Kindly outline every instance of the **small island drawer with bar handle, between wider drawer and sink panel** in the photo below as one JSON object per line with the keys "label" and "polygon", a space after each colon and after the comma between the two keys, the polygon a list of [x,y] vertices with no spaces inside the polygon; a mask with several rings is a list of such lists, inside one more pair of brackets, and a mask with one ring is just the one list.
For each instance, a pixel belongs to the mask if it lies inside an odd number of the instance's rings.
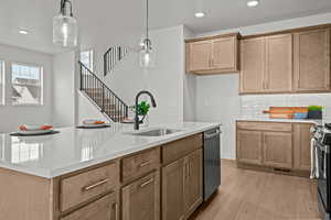
{"label": "small island drawer with bar handle, between wider drawer and sink panel", "polygon": [[147,174],[160,165],[160,148],[147,151],[121,161],[122,182],[132,180]]}

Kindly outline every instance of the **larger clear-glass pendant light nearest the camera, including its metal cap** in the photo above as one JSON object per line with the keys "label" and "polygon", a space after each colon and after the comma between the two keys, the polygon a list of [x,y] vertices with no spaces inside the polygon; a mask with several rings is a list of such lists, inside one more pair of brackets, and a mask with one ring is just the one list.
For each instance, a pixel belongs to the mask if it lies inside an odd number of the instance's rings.
{"label": "larger clear-glass pendant light nearest the camera, including its metal cap", "polygon": [[61,0],[60,14],[53,18],[53,43],[63,47],[77,46],[78,24],[73,15],[72,0]]}

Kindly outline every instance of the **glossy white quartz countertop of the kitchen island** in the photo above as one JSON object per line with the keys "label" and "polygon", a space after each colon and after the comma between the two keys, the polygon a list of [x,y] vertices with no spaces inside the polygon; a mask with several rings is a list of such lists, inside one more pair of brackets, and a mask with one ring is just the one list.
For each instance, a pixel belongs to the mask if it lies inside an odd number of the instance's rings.
{"label": "glossy white quartz countertop of the kitchen island", "polygon": [[132,135],[132,124],[113,124],[108,129],[56,129],[58,134],[11,136],[0,134],[0,167],[53,178],[88,166],[147,150],[167,142],[200,133],[220,123],[184,122],[150,127],[180,130],[164,136]]}

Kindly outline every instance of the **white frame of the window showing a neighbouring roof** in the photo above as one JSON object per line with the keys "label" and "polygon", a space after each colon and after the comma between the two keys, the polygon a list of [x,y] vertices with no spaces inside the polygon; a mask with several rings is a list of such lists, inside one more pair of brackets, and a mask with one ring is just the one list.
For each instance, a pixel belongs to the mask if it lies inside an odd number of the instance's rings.
{"label": "white frame of the window showing a neighbouring roof", "polygon": [[26,66],[26,67],[34,67],[40,69],[40,102],[39,103],[13,103],[12,101],[12,90],[10,92],[10,102],[12,107],[43,107],[44,106],[44,67],[39,64],[29,64],[29,63],[22,63],[22,62],[10,62],[10,88],[12,89],[12,66],[13,65],[20,65],[20,66]]}

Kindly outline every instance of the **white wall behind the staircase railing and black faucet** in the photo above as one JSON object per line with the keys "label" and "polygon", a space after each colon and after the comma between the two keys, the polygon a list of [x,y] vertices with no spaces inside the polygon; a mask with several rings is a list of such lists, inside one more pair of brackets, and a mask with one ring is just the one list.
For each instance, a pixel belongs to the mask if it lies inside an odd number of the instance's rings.
{"label": "white wall behind the staircase railing and black faucet", "polygon": [[[184,69],[184,37],[183,26],[153,30],[150,33],[153,48],[157,51],[156,67],[142,69],[139,67],[139,54],[130,51],[124,62],[115,70],[102,76],[102,62],[96,63],[97,74],[106,81],[127,105],[131,106],[135,96],[140,90],[149,90],[154,95],[158,107],[150,109],[150,124],[177,123],[183,121],[183,69]],[[131,37],[131,44],[138,44],[140,35]],[[100,42],[99,45],[105,45]],[[97,45],[94,42],[86,48]],[[100,50],[95,51],[96,57]],[[82,102],[82,101],[79,101]],[[89,116],[88,109],[79,108],[79,114]],[[85,111],[85,112],[84,112]],[[86,112],[87,111],[87,112]],[[79,118],[82,118],[79,116]]]}

